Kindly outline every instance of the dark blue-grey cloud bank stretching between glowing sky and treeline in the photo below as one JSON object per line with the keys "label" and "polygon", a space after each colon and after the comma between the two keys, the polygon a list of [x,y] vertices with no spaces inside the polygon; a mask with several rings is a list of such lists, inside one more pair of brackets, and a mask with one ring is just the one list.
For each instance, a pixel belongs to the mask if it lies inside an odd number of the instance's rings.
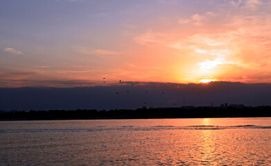
{"label": "dark blue-grey cloud bank stretching between glowing sky and treeline", "polygon": [[[117,94],[118,93],[118,94]],[[184,97],[185,96],[185,102]],[[122,82],[77,88],[0,88],[0,110],[137,109],[140,107],[271,105],[271,84]]]}

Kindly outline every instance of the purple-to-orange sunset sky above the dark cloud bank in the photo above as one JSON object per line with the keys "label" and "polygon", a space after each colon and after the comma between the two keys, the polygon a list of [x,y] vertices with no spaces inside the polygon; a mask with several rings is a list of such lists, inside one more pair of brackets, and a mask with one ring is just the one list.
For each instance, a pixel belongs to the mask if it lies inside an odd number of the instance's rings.
{"label": "purple-to-orange sunset sky above the dark cloud bank", "polygon": [[270,8],[269,0],[1,0],[0,87],[271,83]]}

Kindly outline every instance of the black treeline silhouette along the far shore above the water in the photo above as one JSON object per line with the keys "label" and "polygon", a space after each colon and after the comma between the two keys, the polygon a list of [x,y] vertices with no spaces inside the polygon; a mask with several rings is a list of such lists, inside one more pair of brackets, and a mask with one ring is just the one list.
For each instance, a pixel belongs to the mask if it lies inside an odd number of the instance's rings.
{"label": "black treeline silhouette along the far shore above the water", "polygon": [[138,118],[248,118],[271,117],[270,106],[260,107],[176,107],[115,109],[1,111],[0,120],[70,120],[70,119],[138,119]]}

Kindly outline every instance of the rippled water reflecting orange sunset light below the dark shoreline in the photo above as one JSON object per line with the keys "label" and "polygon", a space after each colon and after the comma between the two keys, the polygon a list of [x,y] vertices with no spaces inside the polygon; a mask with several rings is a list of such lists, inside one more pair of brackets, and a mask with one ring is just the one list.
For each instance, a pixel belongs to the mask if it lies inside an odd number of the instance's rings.
{"label": "rippled water reflecting orange sunset light below the dark shoreline", "polygon": [[271,118],[0,122],[0,165],[271,165]]}

